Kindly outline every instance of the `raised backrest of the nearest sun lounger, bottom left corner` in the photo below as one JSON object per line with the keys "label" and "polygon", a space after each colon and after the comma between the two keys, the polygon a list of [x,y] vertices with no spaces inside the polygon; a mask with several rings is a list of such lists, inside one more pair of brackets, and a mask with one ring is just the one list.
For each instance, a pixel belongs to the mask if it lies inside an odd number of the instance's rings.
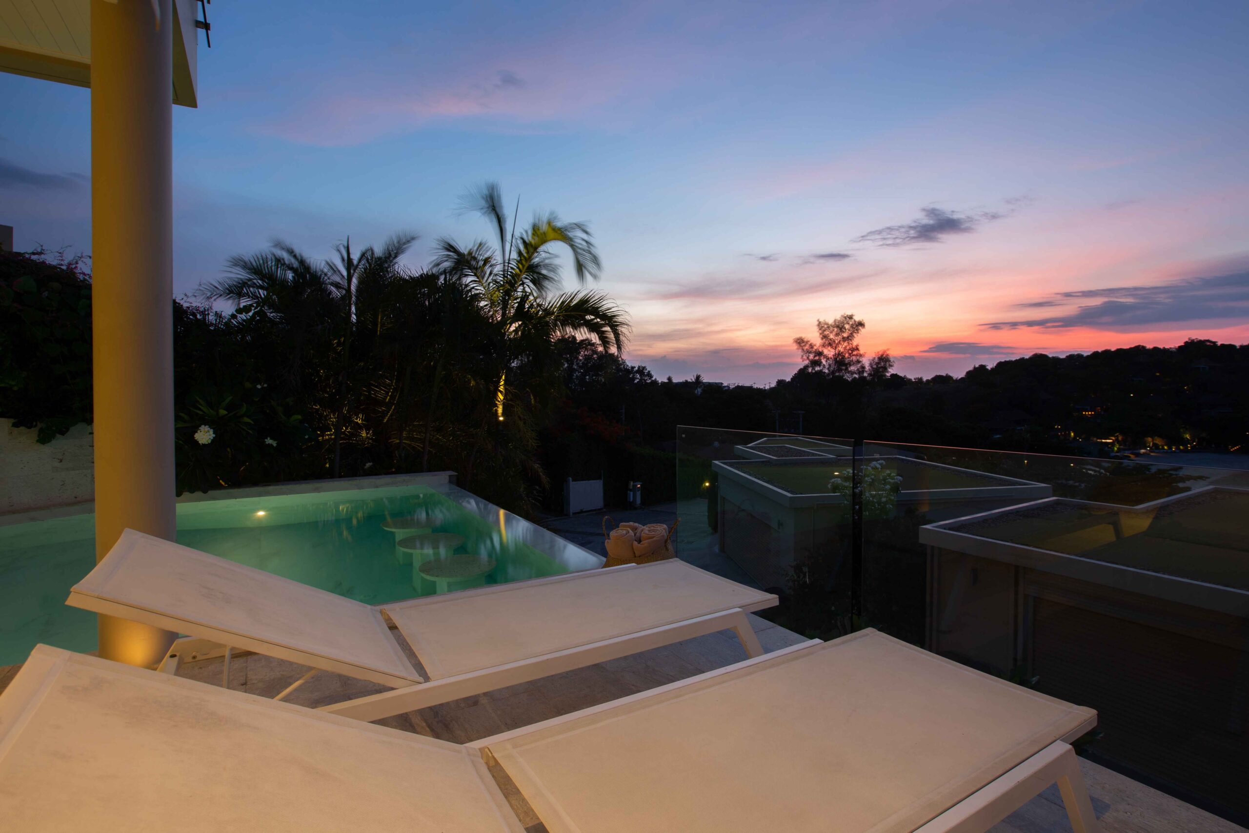
{"label": "raised backrest of the nearest sun lounger, bottom left corner", "polygon": [[475,751],[47,646],[0,696],[0,828],[522,833]]}

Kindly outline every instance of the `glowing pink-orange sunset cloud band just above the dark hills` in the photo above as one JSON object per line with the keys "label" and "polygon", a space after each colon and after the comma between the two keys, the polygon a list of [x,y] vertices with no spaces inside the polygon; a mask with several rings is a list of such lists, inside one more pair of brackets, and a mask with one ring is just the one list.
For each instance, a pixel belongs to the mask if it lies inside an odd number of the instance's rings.
{"label": "glowing pink-orange sunset cloud band just above the dark hills", "polygon": [[[1075,211],[1042,206],[1037,216],[1020,214],[1018,226],[965,235],[957,246],[861,250],[852,261],[814,275],[787,264],[783,252],[779,260],[748,266],[722,255],[723,271],[654,288],[632,282],[627,291],[636,313],[633,343],[644,345],[638,352],[642,360],[722,367],[724,381],[759,381],[749,376],[753,366],[767,366],[767,373],[781,365],[797,367],[792,338],[809,336],[817,317],[842,312],[868,322],[866,351],[887,348],[904,357],[899,367],[906,372],[923,375],[962,372],[972,363],[1033,352],[1175,345],[1188,337],[1244,343],[1249,323],[1215,320],[1140,323],[1130,331],[1072,326],[1060,332],[990,332],[982,325],[1049,315],[1048,308],[1023,305],[1053,300],[1058,292],[1164,285],[1243,270],[1243,255],[1220,254],[1228,240],[1212,236],[1212,219],[1245,204],[1249,195],[1229,186],[1117,211],[1102,202]],[[1080,302],[1070,300],[1072,306]],[[988,348],[931,350],[950,342]],[[738,370],[731,373],[732,368]]]}

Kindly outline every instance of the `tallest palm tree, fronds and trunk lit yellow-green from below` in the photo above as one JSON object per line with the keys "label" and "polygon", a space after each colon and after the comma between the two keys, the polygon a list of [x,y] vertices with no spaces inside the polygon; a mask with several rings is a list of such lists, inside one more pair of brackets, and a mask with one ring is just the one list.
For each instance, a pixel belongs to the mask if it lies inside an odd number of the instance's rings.
{"label": "tallest palm tree, fronds and trunk lit yellow-green from below", "polygon": [[502,422],[507,372],[515,362],[535,351],[545,352],[561,336],[590,336],[603,350],[620,353],[628,337],[628,316],[603,292],[560,291],[557,245],[572,255],[573,272],[582,286],[602,272],[585,222],[563,222],[553,212],[538,214],[517,234],[516,215],[508,221],[497,182],[471,191],[463,207],[491,224],[498,249],[480,241],[463,249],[443,237],[437,242],[433,267],[471,286],[495,325],[493,410]]}

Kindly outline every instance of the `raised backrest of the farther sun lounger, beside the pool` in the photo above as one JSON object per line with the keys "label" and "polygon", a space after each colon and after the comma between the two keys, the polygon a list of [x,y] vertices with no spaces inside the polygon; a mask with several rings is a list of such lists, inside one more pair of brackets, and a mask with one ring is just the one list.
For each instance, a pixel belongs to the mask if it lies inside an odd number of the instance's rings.
{"label": "raised backrest of the farther sun lounger, beside the pool", "polygon": [[421,682],[376,608],[132,530],[67,603],[376,682]]}

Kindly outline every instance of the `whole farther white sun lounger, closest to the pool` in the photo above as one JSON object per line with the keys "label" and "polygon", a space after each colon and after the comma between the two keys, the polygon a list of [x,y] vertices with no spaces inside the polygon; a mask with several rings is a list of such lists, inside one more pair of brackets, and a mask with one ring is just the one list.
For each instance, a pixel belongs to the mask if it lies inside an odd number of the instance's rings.
{"label": "whole farther white sun lounger, closest to the pool", "polygon": [[722,629],[756,657],[777,597],[671,559],[371,606],[126,530],[67,603],[187,634],[165,671],[221,646],[227,679],[230,649],[309,666],[279,699],[317,671],[391,686],[325,707],[376,721]]}

